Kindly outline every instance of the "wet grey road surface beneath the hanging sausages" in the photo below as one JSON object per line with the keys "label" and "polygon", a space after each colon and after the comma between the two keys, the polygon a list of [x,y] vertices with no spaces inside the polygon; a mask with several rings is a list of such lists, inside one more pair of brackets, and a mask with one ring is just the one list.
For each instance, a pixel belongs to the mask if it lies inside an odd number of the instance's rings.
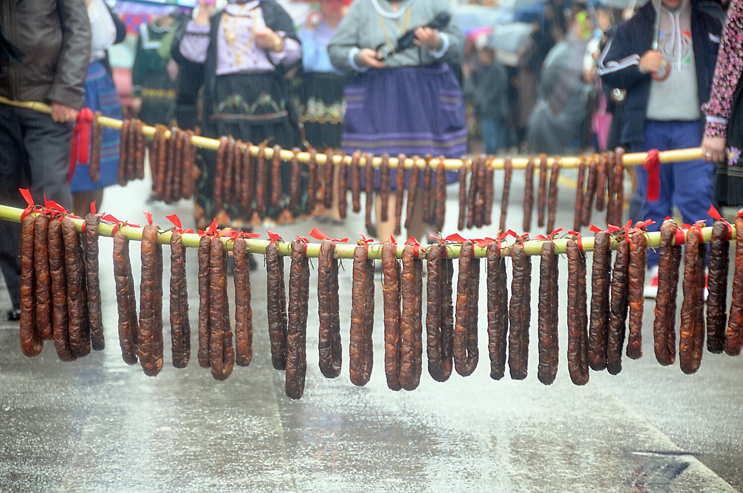
{"label": "wet grey road surface beneath the hanging sausages", "polygon": [[[569,173],[565,173],[569,177]],[[511,197],[520,197],[516,173]],[[557,223],[571,226],[572,195],[561,189]],[[117,217],[155,221],[189,203],[146,206],[146,183],[109,189],[104,207]],[[447,224],[455,224],[450,189]],[[500,197],[496,189],[496,197]],[[496,216],[499,207],[495,207]],[[519,205],[508,224],[519,226]],[[497,218],[496,221],[497,223]],[[597,223],[602,222],[597,218]],[[314,223],[276,228],[285,238]],[[354,236],[363,220],[321,226]],[[517,228],[520,229],[520,228]],[[453,232],[447,228],[446,232]],[[490,232],[492,235],[493,232]],[[475,233],[473,235],[482,236]],[[137,244],[132,244],[138,285]],[[111,241],[100,247],[106,350],[62,363],[48,343],[27,359],[17,324],[0,322],[0,490],[7,492],[736,492],[743,489],[743,357],[704,353],[685,376],[652,354],[653,301],[646,302],[645,356],[625,359],[618,376],[591,372],[571,384],[565,356],[565,292],[559,293],[560,368],[554,385],[536,379],[536,304],[525,381],[490,379],[480,297],[480,363],[472,376],[448,382],[426,374],[418,390],[386,388],[381,290],[377,288],[371,382],[351,385],[348,364],[334,380],[317,368],[317,291],[311,288],[308,375],[298,402],[284,395],[284,374],[270,364],[265,269],[251,273],[254,356],[216,382],[195,361],[195,251],[189,251],[192,359],[172,368],[165,302],[166,363],[156,378],[127,366],[117,343]],[[165,249],[165,255],[169,255]],[[256,257],[259,264],[262,257]],[[566,261],[560,261],[565,286]],[[340,274],[344,358],[348,357],[351,263]],[[533,300],[537,267],[533,267]],[[168,269],[163,285],[169,286]],[[590,275],[590,273],[589,273]],[[316,281],[312,272],[311,284]],[[510,279],[510,272],[509,272]],[[510,282],[510,281],[509,281]],[[377,284],[378,286],[378,284]],[[510,289],[510,287],[509,287]],[[680,305],[680,303],[679,303]],[[0,292],[0,307],[8,306]],[[425,361],[425,358],[424,358]],[[425,363],[424,363],[425,365]]]}

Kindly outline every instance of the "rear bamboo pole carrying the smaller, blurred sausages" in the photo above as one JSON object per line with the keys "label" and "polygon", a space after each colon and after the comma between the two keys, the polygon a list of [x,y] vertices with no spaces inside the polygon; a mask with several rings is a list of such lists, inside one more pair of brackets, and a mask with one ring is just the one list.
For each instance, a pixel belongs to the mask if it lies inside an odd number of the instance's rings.
{"label": "rear bamboo pole carrying the smaller, blurred sausages", "polygon": [[[0,96],[0,103],[4,105],[10,105],[15,106],[16,108],[26,108],[31,109],[34,111],[39,111],[41,113],[50,114],[51,113],[51,107],[48,105],[45,105],[42,102],[38,101],[14,101],[13,99],[7,99]],[[100,125],[103,125],[108,128],[114,128],[116,130],[120,130],[121,126],[123,125],[121,120],[116,120],[115,118],[109,118],[109,117],[103,117],[98,116],[98,123]],[[142,129],[142,133],[146,137],[152,137],[155,135],[155,127],[144,125]],[[170,137],[170,131],[166,131],[165,135],[167,138]],[[212,151],[216,151],[219,148],[219,140],[218,139],[210,139],[209,137],[201,137],[199,135],[194,135],[191,137],[191,142],[198,147],[210,149]],[[244,146],[245,148],[250,150],[250,153],[253,154],[253,156],[258,155],[258,146]],[[271,159],[273,158],[273,148],[266,148],[265,149],[266,158]],[[288,149],[282,149],[280,151],[280,156],[282,160],[288,161],[291,160],[294,153],[291,150]],[[299,158],[299,161],[301,163],[308,163],[310,160],[310,153],[309,152],[299,152],[297,154],[297,157]],[[647,157],[647,153],[645,152],[636,152],[632,154],[624,154],[623,158],[623,164],[624,166],[640,166],[645,162],[645,159]],[[569,168],[577,168],[580,165],[580,157],[577,156],[566,156],[566,157],[549,157],[548,158],[548,166],[552,166],[552,163],[554,163],[554,160],[560,160],[560,166],[563,169],[569,169]],[[676,149],[673,151],[661,151],[660,153],[660,159],[661,163],[676,163],[678,161],[690,161],[690,160],[697,160],[701,159],[701,148],[686,148],[686,149]],[[315,161],[318,164],[325,164],[328,162],[328,156],[325,154],[317,154],[315,157]],[[460,169],[462,166],[472,166],[472,163],[470,160],[461,160],[461,159],[443,159],[444,161],[444,169],[447,169],[448,171],[454,171],[457,169]],[[512,160],[513,169],[525,169],[528,163],[527,157],[515,157]],[[430,160],[429,166],[436,167],[438,166],[438,163],[441,162],[441,159],[434,158]],[[333,157],[333,163],[335,165],[343,163],[345,165],[351,164],[351,157],[350,156],[340,156],[336,155]],[[378,168],[382,163],[382,159],[380,157],[374,157],[374,159],[371,161],[371,166],[374,166],[375,168]],[[503,157],[491,157],[488,160],[488,166],[490,166],[493,169],[503,169],[505,163],[505,159]],[[366,166],[366,158],[362,157],[359,161],[360,166]],[[400,163],[398,163],[397,157],[390,157],[389,158],[389,166],[391,168],[397,168],[400,166]],[[413,168],[414,166],[417,166],[418,168],[425,168],[426,167],[426,160],[424,159],[418,159],[413,160],[412,158],[407,158],[405,162],[403,163],[403,167],[406,169]]]}

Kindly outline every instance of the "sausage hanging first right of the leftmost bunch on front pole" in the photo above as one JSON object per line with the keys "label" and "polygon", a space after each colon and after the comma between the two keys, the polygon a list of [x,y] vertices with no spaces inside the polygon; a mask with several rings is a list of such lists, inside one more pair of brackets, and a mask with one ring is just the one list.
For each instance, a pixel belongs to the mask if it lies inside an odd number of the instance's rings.
{"label": "sausage hanging first right of the leftmost bunch on front pole", "polygon": [[[53,222],[53,221],[52,221]],[[134,296],[132,264],[129,260],[129,239],[121,229],[114,235],[114,281],[119,311],[119,345],[127,365],[137,362],[137,298]],[[55,334],[56,344],[56,334]],[[59,347],[57,347],[59,353]],[[61,356],[60,356],[61,358]]]}

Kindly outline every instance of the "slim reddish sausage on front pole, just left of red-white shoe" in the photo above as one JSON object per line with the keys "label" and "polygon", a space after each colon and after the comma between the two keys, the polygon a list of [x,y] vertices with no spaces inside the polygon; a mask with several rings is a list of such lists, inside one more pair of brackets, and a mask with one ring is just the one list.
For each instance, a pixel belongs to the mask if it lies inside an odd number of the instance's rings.
{"label": "slim reddish sausage on front pole, just left of red-white shoe", "polygon": [[643,356],[643,289],[645,270],[647,269],[646,232],[635,231],[629,244],[629,337],[627,339],[627,357],[640,359]]}

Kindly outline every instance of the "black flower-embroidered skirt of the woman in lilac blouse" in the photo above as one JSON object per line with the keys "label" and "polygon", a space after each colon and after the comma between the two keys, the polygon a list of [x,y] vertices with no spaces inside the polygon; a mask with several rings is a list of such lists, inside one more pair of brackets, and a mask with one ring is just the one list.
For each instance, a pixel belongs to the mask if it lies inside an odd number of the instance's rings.
{"label": "black flower-embroidered skirt of the woman in lilac blouse", "polygon": [[[211,97],[210,97],[211,96]],[[299,128],[296,115],[287,102],[288,94],[282,79],[276,74],[234,74],[218,76],[213,94],[205,94],[211,111],[205,115],[204,136],[219,138],[223,135],[235,137],[244,143],[267,146],[279,145],[293,148],[299,145]],[[195,218],[198,227],[204,229],[217,218],[219,226],[249,229],[257,226],[252,218],[241,215],[238,203],[214,203],[214,174],[216,151],[201,150],[198,159],[200,174],[196,180]],[[283,200],[288,203],[289,163],[282,163]],[[306,167],[302,165],[302,198],[306,201]],[[270,184],[270,166],[267,184]],[[256,183],[256,186],[258,183]],[[303,207],[303,205],[302,205]],[[267,218],[277,219],[280,209],[269,209]]]}

